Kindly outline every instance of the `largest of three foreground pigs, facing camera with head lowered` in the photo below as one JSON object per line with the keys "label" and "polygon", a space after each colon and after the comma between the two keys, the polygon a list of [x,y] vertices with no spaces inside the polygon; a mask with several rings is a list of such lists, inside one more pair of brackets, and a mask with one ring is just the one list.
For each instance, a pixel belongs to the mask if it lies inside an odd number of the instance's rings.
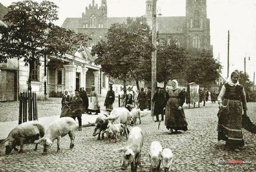
{"label": "largest of three foreground pigs, facing camera with head lowered", "polygon": [[143,134],[139,127],[133,127],[128,136],[125,147],[115,151],[123,152],[121,170],[125,170],[131,164],[131,171],[136,172],[140,165],[141,149],[143,147]]}

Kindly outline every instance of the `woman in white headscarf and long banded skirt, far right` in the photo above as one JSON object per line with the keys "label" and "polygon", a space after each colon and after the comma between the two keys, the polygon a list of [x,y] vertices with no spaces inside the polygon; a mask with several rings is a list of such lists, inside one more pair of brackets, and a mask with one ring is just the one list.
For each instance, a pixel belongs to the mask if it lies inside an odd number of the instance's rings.
{"label": "woman in white headscarf and long banded skirt, far right", "polygon": [[256,126],[246,115],[246,95],[238,79],[239,74],[234,71],[222,86],[218,96],[219,112],[217,114],[219,118],[218,141],[226,141],[226,146],[236,152],[239,152],[239,148],[244,146],[242,127],[256,133]]}

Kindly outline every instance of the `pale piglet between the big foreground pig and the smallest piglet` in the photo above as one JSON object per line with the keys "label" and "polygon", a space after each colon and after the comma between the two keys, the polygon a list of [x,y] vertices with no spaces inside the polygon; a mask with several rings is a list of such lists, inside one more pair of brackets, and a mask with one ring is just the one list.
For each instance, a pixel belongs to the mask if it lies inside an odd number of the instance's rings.
{"label": "pale piglet between the big foreground pig and the smallest piglet", "polygon": [[162,145],[158,141],[153,141],[148,151],[148,158],[150,160],[151,167],[157,171],[160,171],[162,150]]}

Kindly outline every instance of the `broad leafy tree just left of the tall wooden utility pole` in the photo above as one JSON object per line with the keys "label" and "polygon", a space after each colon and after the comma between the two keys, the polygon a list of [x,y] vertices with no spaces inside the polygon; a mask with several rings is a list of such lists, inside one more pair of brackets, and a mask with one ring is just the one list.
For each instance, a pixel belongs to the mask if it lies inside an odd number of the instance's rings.
{"label": "broad leafy tree just left of the tall wooden utility pole", "polygon": [[123,81],[126,94],[126,81],[134,78],[137,83],[143,79],[140,73],[145,70],[146,60],[150,60],[153,46],[147,19],[127,18],[127,24],[114,23],[108,30],[107,40],[94,45],[91,54],[97,55],[96,64],[102,71]]}

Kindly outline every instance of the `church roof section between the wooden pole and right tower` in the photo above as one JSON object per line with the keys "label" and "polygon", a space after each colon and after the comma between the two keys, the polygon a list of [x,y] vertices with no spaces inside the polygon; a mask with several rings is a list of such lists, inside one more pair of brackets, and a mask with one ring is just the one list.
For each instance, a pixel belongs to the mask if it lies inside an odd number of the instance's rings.
{"label": "church roof section between the wooden pole and right tower", "polygon": [[183,33],[186,17],[157,17],[159,33]]}

